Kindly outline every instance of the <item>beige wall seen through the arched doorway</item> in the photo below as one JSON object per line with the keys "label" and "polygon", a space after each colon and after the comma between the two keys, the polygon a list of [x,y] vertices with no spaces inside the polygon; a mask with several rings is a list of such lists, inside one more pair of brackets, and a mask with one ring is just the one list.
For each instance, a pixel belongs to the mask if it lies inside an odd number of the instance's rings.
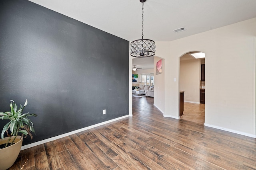
{"label": "beige wall seen through the arched doorway", "polygon": [[200,103],[200,70],[201,59],[180,61],[179,90],[185,91],[184,101]]}

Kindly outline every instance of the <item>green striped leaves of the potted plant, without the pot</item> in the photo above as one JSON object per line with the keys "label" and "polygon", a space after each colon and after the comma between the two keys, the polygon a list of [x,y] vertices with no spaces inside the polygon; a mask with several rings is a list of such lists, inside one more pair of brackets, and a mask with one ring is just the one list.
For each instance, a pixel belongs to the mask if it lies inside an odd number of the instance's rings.
{"label": "green striped leaves of the potted plant, without the pot", "polygon": [[[4,133],[7,133],[8,141],[6,143],[6,146],[8,146],[8,143],[10,142],[10,139],[12,136],[15,136],[12,143],[14,143],[14,140],[16,139],[18,133],[22,133],[22,137],[25,135],[24,138],[27,137],[27,135],[30,136],[31,140],[33,139],[33,135],[31,132],[35,133],[35,130],[33,128],[33,123],[30,121],[28,118],[29,116],[37,116],[36,114],[29,114],[29,113],[24,113],[22,114],[22,111],[24,107],[28,104],[28,100],[26,100],[24,106],[22,107],[20,105],[20,109],[18,109],[17,105],[13,100],[11,100],[11,111],[6,111],[6,112],[0,112],[0,118],[1,119],[8,119],[10,120],[6,125],[4,125],[1,137],[4,139]],[[8,129],[10,130],[10,134],[8,133]]]}

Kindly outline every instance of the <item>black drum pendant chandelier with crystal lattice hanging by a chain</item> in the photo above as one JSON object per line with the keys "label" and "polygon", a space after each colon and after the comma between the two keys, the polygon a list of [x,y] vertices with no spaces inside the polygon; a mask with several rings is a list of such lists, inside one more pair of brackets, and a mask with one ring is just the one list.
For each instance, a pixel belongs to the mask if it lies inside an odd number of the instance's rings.
{"label": "black drum pendant chandelier with crystal lattice hanging by a chain", "polygon": [[143,39],[143,13],[144,2],[146,0],[140,0],[142,2],[142,39],[137,39],[131,42],[131,56],[133,57],[150,57],[155,55],[156,44],[155,41],[150,39]]}

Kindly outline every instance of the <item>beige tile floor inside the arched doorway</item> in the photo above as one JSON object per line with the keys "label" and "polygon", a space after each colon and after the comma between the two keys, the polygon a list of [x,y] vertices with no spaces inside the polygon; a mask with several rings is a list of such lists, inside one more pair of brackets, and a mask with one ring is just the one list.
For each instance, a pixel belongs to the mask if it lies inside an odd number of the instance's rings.
{"label": "beige tile floor inside the arched doorway", "polygon": [[184,102],[184,111],[180,119],[204,124],[204,104]]}

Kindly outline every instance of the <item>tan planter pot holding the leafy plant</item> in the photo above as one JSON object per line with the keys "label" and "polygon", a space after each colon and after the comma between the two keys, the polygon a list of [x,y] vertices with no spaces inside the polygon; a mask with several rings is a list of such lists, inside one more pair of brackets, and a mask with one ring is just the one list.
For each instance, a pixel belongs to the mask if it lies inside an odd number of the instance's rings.
{"label": "tan planter pot holding the leafy plant", "polygon": [[[0,139],[0,145],[7,143],[8,138]],[[13,138],[11,138],[10,142],[12,142]],[[22,141],[23,138],[20,139],[20,136],[17,136],[12,146],[0,149],[0,170],[6,170],[14,164],[20,153]]]}

